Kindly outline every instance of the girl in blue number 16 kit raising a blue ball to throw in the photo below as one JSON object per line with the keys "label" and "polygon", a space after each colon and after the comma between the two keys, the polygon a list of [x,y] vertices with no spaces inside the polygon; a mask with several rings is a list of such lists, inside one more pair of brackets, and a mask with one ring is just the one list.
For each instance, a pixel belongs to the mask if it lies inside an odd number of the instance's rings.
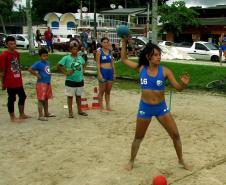
{"label": "girl in blue number 16 kit raising a blue ball to throw", "polygon": [[121,49],[122,62],[140,73],[141,86],[136,133],[132,142],[131,158],[126,168],[127,170],[133,168],[140,143],[145,136],[152,116],[155,116],[172,138],[179,164],[188,169],[182,157],[181,140],[176,123],[165,102],[164,89],[166,79],[168,79],[176,90],[182,91],[189,83],[189,75],[183,74],[180,77],[180,83],[178,83],[171,70],[160,65],[161,49],[152,43],[148,43],[141,51],[138,63],[129,60],[126,53],[126,43],[127,39],[123,38]]}

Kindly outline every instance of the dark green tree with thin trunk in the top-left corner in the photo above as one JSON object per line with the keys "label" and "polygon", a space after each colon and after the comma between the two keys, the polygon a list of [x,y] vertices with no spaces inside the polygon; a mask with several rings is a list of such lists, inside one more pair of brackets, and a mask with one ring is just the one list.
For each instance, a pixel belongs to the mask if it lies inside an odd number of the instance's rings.
{"label": "dark green tree with thin trunk in the top-left corner", "polygon": [[7,17],[11,14],[13,9],[14,0],[0,0],[0,21],[2,24],[3,32],[6,34],[5,24],[3,17]]}

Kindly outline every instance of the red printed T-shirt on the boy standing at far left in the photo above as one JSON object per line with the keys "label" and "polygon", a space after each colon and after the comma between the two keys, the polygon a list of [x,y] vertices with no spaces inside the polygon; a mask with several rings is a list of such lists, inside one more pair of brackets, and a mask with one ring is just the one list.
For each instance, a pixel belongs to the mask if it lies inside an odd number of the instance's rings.
{"label": "red printed T-shirt on the boy standing at far left", "polygon": [[23,86],[20,69],[20,55],[17,51],[3,51],[0,55],[0,68],[4,72],[3,86],[17,88]]}

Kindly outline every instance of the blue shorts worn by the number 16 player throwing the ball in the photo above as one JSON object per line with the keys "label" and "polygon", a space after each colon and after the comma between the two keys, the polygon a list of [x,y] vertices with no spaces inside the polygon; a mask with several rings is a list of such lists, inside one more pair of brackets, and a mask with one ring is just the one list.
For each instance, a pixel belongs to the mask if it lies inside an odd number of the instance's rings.
{"label": "blue shorts worn by the number 16 player throwing the ball", "polygon": [[166,105],[165,100],[160,102],[159,104],[148,104],[143,100],[140,101],[139,110],[137,113],[137,118],[141,119],[151,119],[152,116],[163,116],[168,113],[169,109]]}

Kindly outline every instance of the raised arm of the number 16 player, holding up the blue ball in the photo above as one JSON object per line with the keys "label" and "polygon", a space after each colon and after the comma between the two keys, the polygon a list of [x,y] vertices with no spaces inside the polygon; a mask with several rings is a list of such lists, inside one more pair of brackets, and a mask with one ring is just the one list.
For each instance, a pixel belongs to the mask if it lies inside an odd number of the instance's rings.
{"label": "raised arm of the number 16 player, holding up the blue ball", "polygon": [[136,62],[133,62],[133,61],[129,60],[128,57],[127,57],[127,53],[126,53],[127,39],[126,38],[122,38],[121,42],[122,42],[122,48],[121,48],[121,60],[122,60],[122,62],[125,65],[127,65],[128,67],[139,71],[138,64]]}

